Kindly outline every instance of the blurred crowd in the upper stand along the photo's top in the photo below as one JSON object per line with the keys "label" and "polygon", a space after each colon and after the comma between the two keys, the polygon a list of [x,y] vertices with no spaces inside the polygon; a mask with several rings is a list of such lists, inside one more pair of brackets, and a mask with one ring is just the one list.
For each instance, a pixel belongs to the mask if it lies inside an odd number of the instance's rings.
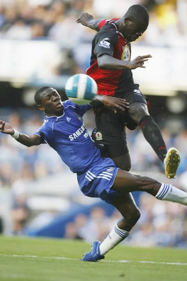
{"label": "blurred crowd in the upper stand along the photo's top", "polygon": [[6,39],[47,37],[71,47],[81,40],[83,30],[85,33],[85,28],[75,23],[80,13],[86,11],[99,18],[121,17],[133,4],[143,4],[150,11],[148,30],[136,44],[187,46],[185,0],[115,0],[115,5],[114,0],[0,0],[0,34]]}

